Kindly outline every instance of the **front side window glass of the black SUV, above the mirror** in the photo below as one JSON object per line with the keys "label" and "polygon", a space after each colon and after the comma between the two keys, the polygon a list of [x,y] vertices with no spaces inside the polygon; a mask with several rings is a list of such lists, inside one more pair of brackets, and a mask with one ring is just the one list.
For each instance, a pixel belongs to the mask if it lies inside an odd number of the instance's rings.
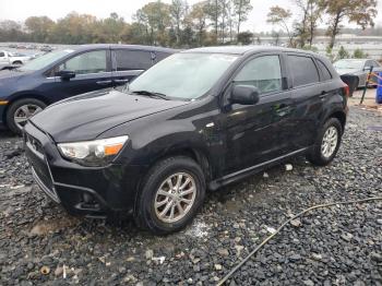
{"label": "front side window glass of the black SUV, above the mirror", "polygon": [[282,90],[282,69],[278,56],[263,56],[250,60],[236,75],[235,85],[253,85],[260,94]]}

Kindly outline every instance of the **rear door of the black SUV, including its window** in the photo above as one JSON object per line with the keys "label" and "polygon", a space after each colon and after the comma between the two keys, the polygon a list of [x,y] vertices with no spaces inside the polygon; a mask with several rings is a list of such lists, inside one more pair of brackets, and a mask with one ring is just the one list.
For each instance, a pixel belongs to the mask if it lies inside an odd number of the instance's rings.
{"label": "rear door of the black SUV, including its window", "polygon": [[300,150],[313,143],[324,102],[332,91],[329,90],[330,84],[321,79],[318,63],[310,55],[287,53],[287,62],[294,102],[291,120],[296,127],[293,141],[295,148]]}

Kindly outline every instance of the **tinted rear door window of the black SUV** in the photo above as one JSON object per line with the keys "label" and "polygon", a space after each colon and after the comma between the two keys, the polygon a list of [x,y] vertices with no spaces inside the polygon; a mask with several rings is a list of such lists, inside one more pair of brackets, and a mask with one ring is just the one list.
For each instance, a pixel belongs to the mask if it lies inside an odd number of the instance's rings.
{"label": "tinted rear door window of the black SUV", "polygon": [[295,87],[320,81],[319,71],[317,70],[312,58],[288,56],[288,61]]}

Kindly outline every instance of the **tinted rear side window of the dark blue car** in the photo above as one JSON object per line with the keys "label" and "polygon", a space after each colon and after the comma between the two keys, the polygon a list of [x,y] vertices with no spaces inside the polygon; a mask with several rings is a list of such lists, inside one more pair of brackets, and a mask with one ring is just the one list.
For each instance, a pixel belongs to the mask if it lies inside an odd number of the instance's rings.
{"label": "tinted rear side window of the dark blue car", "polygon": [[152,53],[144,50],[115,50],[117,71],[147,70],[152,67]]}

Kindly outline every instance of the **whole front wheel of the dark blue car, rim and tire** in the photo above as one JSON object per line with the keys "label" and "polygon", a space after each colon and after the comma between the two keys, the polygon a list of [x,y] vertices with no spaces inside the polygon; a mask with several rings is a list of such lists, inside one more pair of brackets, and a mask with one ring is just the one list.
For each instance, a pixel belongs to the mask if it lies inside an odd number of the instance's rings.
{"label": "whole front wheel of the dark blue car, rim and tire", "polygon": [[24,98],[14,102],[7,111],[7,126],[14,133],[21,134],[28,118],[38,114],[46,107],[41,100]]}

